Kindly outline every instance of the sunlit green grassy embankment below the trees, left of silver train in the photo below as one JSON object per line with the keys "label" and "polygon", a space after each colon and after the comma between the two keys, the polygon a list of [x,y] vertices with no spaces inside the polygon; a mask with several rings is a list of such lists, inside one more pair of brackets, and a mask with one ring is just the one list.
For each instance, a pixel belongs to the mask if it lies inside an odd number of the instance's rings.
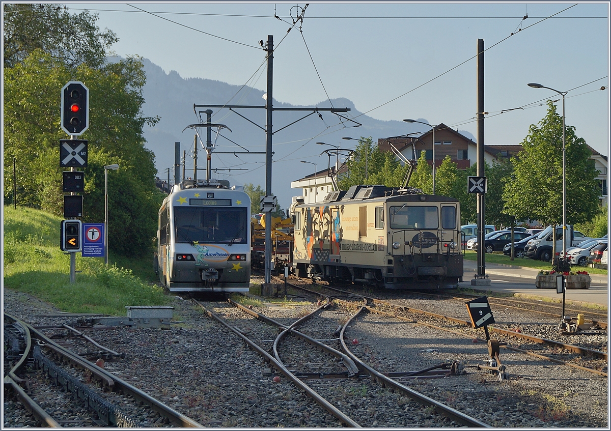
{"label": "sunlit green grassy embankment below the trees, left of silver train", "polygon": [[[31,208],[4,206],[4,288],[34,295],[68,313],[125,316],[126,305],[165,305],[153,286],[152,259],[83,258],[76,253],[76,283],[70,256],[59,249],[60,217]],[[129,267],[131,269],[124,269]],[[134,275],[135,274],[135,275]]]}

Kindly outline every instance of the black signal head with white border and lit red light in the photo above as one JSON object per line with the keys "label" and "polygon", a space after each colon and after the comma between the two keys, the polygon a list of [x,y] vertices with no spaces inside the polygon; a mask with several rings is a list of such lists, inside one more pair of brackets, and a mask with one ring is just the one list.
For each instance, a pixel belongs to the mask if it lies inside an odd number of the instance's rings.
{"label": "black signal head with white border and lit red light", "polygon": [[79,81],[62,88],[62,129],[71,136],[83,134],[89,127],[89,89]]}

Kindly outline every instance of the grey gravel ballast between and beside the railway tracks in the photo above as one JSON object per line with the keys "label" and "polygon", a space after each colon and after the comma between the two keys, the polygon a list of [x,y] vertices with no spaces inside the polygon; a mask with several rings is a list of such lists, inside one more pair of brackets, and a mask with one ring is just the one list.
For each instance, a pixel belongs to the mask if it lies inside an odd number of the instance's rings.
{"label": "grey gravel ballast between and beside the railway tracks", "polygon": [[[170,305],[175,308],[174,319],[185,323],[169,330],[84,331],[103,346],[126,354],[125,359],[107,361],[108,371],[208,427],[338,426],[336,419],[284,378],[273,382],[274,370],[270,372],[268,364],[199,307],[180,299]],[[436,300],[433,305],[436,313],[450,316],[460,317],[465,310],[464,304],[459,307],[451,301]],[[311,310],[313,305],[304,307]],[[4,290],[4,310],[18,318],[27,316],[32,325],[70,325],[70,318],[31,317],[57,310],[8,289]],[[257,311],[290,321],[299,315],[299,306],[264,306]],[[514,311],[503,312],[507,322],[521,319]],[[334,324],[340,319],[329,317]],[[244,326],[249,320],[243,313],[235,318]],[[531,319],[541,321],[540,316],[527,316],[521,323],[531,323]],[[304,331],[310,328],[304,325]],[[509,378],[500,382],[486,371],[468,368],[486,363],[485,344],[369,313],[351,324],[346,337],[357,339],[351,350],[380,371],[415,371],[455,360],[465,364],[466,375],[402,382],[491,426],[608,427],[607,378],[501,349]],[[35,426],[20,408],[20,403],[5,393],[4,427]],[[410,426],[409,418],[398,413],[392,418],[379,411],[370,414],[374,419],[371,426]],[[376,414],[380,421],[376,421]],[[68,421],[68,416],[65,419]]]}

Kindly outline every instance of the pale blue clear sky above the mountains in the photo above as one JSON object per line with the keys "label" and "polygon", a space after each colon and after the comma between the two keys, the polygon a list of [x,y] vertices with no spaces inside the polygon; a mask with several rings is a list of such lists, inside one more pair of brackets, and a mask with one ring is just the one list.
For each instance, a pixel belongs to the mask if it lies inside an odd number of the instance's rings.
{"label": "pale blue clear sky above the mountains", "polygon": [[[307,7],[88,2],[68,7],[98,13],[98,26],[120,39],[112,46],[119,56],[142,56],[182,78],[260,90],[266,89],[266,69],[258,42],[273,35],[275,100],[312,105],[343,97],[379,120],[417,118],[476,137],[476,54],[483,39],[486,145],[521,143],[530,125],[546,115],[548,99],[558,100],[562,115],[562,96],[527,85],[536,82],[567,92],[566,124],[590,147],[609,154],[609,2],[313,1]],[[320,147],[312,151],[318,156]],[[302,166],[296,172],[305,175],[309,167]]]}

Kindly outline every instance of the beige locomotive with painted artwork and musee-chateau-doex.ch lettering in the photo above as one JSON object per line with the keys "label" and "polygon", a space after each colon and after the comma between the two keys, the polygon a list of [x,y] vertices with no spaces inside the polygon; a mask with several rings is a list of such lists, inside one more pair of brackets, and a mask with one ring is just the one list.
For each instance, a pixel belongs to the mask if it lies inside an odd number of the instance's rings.
{"label": "beige locomotive with painted artwork and musee-chateau-doex.ch lettering", "polygon": [[412,187],[352,186],[291,205],[298,277],[387,289],[455,288],[463,281],[460,204]]}

